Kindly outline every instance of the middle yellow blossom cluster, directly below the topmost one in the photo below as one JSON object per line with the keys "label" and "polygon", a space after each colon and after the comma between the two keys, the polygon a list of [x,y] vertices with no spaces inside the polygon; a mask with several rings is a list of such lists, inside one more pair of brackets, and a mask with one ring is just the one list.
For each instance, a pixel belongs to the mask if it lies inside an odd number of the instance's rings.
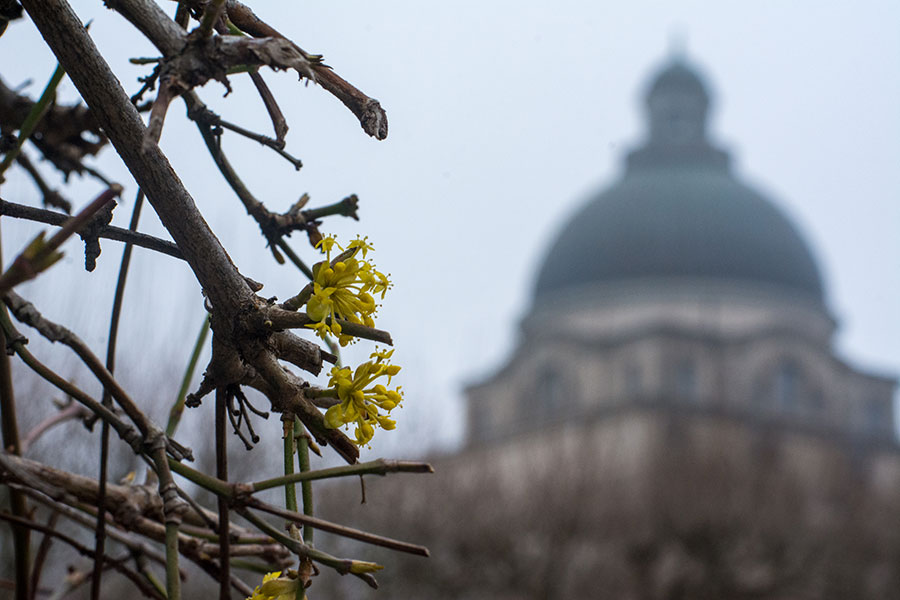
{"label": "middle yellow blossom cluster, directly below the topmost one", "polygon": [[340,403],[335,404],[325,413],[325,424],[332,429],[342,425],[356,424],[356,444],[368,444],[375,434],[375,427],[393,429],[396,423],[382,415],[380,410],[388,413],[403,400],[400,387],[389,390],[384,385],[373,382],[379,377],[387,377],[387,384],[400,371],[398,365],[388,364],[387,360],[394,351],[378,351],[372,353],[370,360],[356,367],[334,367],[331,369],[331,380],[328,386],[333,388]]}

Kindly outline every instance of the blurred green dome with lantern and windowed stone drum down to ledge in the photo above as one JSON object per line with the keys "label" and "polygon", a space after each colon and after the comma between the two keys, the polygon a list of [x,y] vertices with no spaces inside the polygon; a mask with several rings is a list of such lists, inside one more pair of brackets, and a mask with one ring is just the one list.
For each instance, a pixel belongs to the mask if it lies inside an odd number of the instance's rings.
{"label": "blurred green dome with lantern and windowed stone drum down to ledge", "polygon": [[683,59],[652,78],[645,141],[559,233],[515,355],[467,391],[471,443],[635,406],[894,439],[896,381],[835,355],[812,250],[710,141],[709,108]]}

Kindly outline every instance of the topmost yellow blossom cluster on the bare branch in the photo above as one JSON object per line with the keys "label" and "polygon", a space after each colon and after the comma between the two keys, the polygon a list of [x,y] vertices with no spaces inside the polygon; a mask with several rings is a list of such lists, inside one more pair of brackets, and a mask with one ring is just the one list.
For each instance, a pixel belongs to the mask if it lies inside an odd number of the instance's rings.
{"label": "topmost yellow blossom cluster on the bare branch", "polygon": [[[332,260],[335,246],[342,252]],[[325,253],[325,260],[313,267],[313,292],[306,304],[306,314],[315,323],[307,327],[315,329],[322,339],[334,334],[341,346],[346,346],[353,337],[343,333],[337,320],[374,327],[377,305],[373,294],[384,299],[391,282],[366,260],[372,250],[366,238],[353,240],[344,250],[334,237],[328,236],[317,247]]]}

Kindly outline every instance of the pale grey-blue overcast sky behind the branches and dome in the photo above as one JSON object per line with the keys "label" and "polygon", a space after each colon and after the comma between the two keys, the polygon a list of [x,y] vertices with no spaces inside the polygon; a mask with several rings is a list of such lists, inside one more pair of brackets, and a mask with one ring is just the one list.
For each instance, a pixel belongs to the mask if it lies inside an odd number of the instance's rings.
{"label": "pale grey-blue overcast sky behind the branches and dome", "polygon": [[[91,34],[135,91],[135,78],[147,69],[127,58],[153,50],[99,0],[73,6],[84,20],[95,19]],[[840,354],[852,364],[900,372],[900,4],[257,2],[254,8],[306,50],[324,54],[388,111],[390,135],[376,142],[320,88],[298,85],[289,73],[266,73],[291,126],[288,149],[303,159],[303,170],[236,136],[224,142],[270,209],[286,209],[303,192],[312,206],[350,193],[361,198],[360,223],[328,221],[323,229],[343,239],[368,235],[378,266],[396,282],[378,322],[394,335],[407,402],[400,429],[381,436],[392,439],[376,452],[458,439],[462,385],[502,364],[554,234],[589,193],[616,176],[623,152],[640,140],[638,99],[673,36],[686,40],[689,60],[711,85],[713,136],[732,151],[737,173],[773,196],[811,244],[840,323]],[[35,78],[32,94],[54,67],[27,22],[0,38],[0,56],[7,83]],[[221,98],[217,84],[201,95],[226,118],[268,133],[246,77],[233,80],[229,98]],[[64,87],[72,97],[71,83]],[[174,103],[163,150],[241,270],[265,282],[263,293],[296,293],[302,277],[271,259],[183,114]],[[133,184],[111,149],[99,162],[127,182],[127,205],[115,219],[127,224]],[[96,191],[81,182],[70,197],[80,204]],[[22,178],[12,178],[2,195],[36,201]],[[145,215],[142,229],[161,232]],[[33,231],[4,220],[4,256]],[[304,244],[295,237],[311,261]],[[77,309],[75,318],[98,352],[120,252],[106,243],[98,273],[86,275],[73,244],[58,267],[77,289],[93,286],[84,292],[89,308]],[[169,259],[136,256],[129,292],[140,302],[129,308],[125,332],[142,336],[148,348],[188,343],[202,318],[190,273]],[[48,294],[52,285],[25,289],[51,316],[68,318],[72,300]],[[345,358],[352,363],[370,350],[360,345]],[[171,352],[178,369],[187,352]],[[141,365],[145,375],[153,369]]]}

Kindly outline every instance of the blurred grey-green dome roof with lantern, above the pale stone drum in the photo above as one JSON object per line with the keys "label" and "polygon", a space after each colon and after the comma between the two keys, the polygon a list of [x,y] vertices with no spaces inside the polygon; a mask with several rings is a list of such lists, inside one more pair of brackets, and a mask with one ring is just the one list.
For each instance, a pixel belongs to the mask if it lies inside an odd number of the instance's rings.
{"label": "blurred grey-green dome roof with lantern, above the pale stone drum", "polygon": [[579,210],[540,270],[536,300],[633,280],[776,286],[823,303],[803,238],[768,199],[737,180],[706,134],[709,94],[674,60],[645,97],[648,135],[622,178]]}

